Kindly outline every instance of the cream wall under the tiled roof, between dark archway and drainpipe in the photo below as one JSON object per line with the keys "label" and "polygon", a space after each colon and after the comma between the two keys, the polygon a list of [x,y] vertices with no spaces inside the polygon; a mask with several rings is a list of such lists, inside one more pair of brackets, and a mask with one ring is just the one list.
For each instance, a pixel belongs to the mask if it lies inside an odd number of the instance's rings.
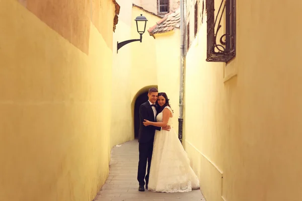
{"label": "cream wall under the tiled roof, between dark archway and drainpipe", "polygon": [[[150,36],[150,38],[153,38]],[[156,34],[156,53],[159,92],[166,92],[173,110],[173,127],[178,132],[179,79],[180,79],[180,30]]]}

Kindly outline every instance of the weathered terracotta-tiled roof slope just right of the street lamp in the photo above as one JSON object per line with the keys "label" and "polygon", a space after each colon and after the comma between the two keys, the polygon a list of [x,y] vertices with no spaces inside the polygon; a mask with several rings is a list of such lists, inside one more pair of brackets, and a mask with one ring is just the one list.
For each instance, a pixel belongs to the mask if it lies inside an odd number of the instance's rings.
{"label": "weathered terracotta-tiled roof slope just right of the street lamp", "polygon": [[148,29],[150,36],[154,34],[166,33],[174,29],[174,27],[180,27],[180,9],[172,11],[165,15],[163,19],[158,21],[156,25]]}

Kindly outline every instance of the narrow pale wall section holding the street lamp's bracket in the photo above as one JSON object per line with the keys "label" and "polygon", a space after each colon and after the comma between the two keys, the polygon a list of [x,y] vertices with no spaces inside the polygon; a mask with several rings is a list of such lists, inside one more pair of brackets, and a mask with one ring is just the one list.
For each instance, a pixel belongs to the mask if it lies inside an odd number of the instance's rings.
{"label": "narrow pale wall section holding the street lamp's bracket", "polygon": [[131,112],[131,45],[129,43],[118,50],[117,42],[131,38],[132,4],[129,0],[119,0],[121,6],[119,22],[113,34],[113,66],[112,66],[112,120],[111,146],[134,138]]}

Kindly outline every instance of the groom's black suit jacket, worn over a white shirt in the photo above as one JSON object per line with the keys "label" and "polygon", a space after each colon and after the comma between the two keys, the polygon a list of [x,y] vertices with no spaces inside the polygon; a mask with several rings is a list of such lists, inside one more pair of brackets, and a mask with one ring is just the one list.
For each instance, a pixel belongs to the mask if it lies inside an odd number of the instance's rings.
{"label": "groom's black suit jacket, worn over a white shirt", "polygon": [[150,122],[156,122],[154,118],[153,109],[147,100],[139,107],[139,132],[138,132],[138,142],[150,142],[154,140],[155,130],[161,130],[161,127],[156,126],[144,126],[143,120],[146,119]]}

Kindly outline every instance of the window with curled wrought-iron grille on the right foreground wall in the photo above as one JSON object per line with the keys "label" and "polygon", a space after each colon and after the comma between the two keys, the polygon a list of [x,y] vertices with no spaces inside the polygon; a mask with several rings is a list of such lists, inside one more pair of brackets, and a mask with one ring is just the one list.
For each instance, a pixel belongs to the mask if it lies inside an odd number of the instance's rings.
{"label": "window with curled wrought-iron grille on the right foreground wall", "polygon": [[[214,9],[214,2],[219,2]],[[229,62],[236,55],[236,0],[207,0],[206,61]],[[223,24],[224,21],[224,24]]]}

